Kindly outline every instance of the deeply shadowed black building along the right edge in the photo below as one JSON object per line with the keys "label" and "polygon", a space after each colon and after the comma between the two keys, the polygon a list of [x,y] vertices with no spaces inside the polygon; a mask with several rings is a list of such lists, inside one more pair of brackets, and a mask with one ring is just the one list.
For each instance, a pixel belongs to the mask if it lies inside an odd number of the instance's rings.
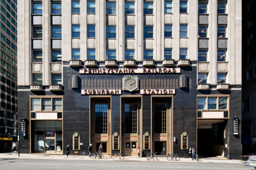
{"label": "deeply shadowed black building along the right edge", "polygon": [[256,151],[255,1],[243,1],[243,154]]}

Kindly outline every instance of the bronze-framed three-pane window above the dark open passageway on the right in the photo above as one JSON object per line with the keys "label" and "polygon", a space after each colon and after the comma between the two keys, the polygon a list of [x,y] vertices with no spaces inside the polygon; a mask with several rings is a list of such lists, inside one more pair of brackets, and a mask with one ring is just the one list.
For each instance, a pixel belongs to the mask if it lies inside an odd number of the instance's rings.
{"label": "bronze-framed three-pane window above the dark open passageway on the right", "polygon": [[198,110],[228,110],[228,97],[198,97]]}

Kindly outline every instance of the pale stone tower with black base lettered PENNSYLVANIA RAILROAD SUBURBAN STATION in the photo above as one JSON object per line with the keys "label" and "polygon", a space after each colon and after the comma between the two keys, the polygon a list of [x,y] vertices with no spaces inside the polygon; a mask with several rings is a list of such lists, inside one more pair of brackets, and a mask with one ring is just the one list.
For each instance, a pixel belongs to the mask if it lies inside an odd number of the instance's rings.
{"label": "pale stone tower with black base lettered PENNSYLVANIA RAILROAD SUBURBAN STATION", "polygon": [[239,157],[240,6],[20,0],[21,152]]}

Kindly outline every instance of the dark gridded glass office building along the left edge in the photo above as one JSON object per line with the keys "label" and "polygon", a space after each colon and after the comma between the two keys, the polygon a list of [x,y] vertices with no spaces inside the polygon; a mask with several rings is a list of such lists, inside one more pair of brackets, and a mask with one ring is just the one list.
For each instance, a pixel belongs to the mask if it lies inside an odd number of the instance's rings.
{"label": "dark gridded glass office building along the left edge", "polygon": [[0,5],[0,152],[8,152],[17,137],[17,0]]}

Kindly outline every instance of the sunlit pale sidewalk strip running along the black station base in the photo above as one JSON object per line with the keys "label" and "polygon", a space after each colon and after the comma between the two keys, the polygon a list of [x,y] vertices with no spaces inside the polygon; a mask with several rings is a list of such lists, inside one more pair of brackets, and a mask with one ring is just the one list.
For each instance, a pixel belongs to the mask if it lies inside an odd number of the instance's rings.
{"label": "sunlit pale sidewalk strip running along the black station base", "polygon": [[[123,159],[112,159],[108,155],[104,156],[104,159],[92,159],[88,156],[83,155],[70,155],[69,157],[65,157],[65,155],[57,155],[57,154],[20,154],[18,157],[17,153],[6,153],[0,154],[1,158],[8,158],[8,159],[51,159],[51,160],[91,160],[91,161],[147,161],[146,157],[132,157],[127,156]],[[153,161],[153,160],[150,160]],[[221,157],[206,157],[206,158],[199,158],[198,161],[191,161],[191,158],[184,158],[181,157],[180,161],[168,161],[166,157],[158,157],[158,162],[191,162],[191,163],[220,163],[220,164],[243,164],[244,161],[241,160],[226,160]]]}

